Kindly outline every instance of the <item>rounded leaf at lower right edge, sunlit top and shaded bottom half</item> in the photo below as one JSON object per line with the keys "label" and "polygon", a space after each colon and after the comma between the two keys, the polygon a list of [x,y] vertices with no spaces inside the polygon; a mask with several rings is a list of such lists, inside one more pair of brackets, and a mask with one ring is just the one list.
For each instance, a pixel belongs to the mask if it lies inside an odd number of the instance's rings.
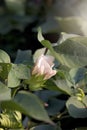
{"label": "rounded leaf at lower right edge, sunlit top and shaded bottom half", "polygon": [[66,107],[69,114],[74,118],[87,117],[87,96],[82,101],[79,101],[76,96],[72,96],[66,102]]}

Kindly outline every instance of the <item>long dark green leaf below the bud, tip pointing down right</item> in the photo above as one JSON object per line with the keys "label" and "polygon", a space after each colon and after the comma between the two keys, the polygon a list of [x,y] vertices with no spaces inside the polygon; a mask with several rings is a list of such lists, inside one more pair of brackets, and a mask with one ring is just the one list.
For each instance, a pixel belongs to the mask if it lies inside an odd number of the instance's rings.
{"label": "long dark green leaf below the bud, tip pointing down right", "polygon": [[2,102],[1,107],[10,110],[18,110],[34,119],[52,124],[39,98],[30,92],[19,92],[13,100]]}

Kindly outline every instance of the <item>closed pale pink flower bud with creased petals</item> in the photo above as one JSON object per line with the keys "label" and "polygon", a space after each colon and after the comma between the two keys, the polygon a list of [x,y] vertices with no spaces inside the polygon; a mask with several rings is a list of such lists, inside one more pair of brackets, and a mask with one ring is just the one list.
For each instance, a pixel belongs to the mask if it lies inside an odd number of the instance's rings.
{"label": "closed pale pink flower bud with creased petals", "polygon": [[33,68],[32,75],[44,75],[44,79],[49,79],[56,74],[53,70],[54,58],[52,56],[41,55]]}

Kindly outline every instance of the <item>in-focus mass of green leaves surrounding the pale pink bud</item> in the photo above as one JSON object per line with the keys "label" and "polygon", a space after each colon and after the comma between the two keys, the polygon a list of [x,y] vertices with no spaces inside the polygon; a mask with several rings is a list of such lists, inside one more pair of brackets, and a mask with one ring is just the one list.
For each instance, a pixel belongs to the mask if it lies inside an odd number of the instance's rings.
{"label": "in-focus mass of green leaves surrounding the pale pink bud", "polygon": [[55,58],[57,73],[47,80],[44,75],[32,74],[34,62],[45,48],[34,55],[30,50],[18,50],[14,63],[6,52],[0,51],[0,128],[3,130],[62,130],[64,118],[87,118],[87,38],[62,33],[52,46],[39,29],[38,39],[48,49],[47,55]]}

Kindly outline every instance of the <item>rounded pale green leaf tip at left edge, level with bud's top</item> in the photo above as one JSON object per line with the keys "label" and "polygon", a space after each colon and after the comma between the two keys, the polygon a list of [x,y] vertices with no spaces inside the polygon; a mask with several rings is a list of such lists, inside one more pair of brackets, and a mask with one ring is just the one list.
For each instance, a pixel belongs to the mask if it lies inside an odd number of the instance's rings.
{"label": "rounded pale green leaf tip at left edge, level with bud's top", "polygon": [[0,49],[0,62],[2,63],[10,63],[10,57],[9,55]]}

